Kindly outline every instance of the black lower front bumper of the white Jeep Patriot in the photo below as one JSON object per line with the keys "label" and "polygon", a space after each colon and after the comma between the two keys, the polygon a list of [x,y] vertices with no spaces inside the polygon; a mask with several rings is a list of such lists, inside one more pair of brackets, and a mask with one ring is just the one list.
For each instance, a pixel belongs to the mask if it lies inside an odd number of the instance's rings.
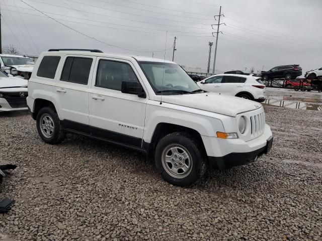
{"label": "black lower front bumper of the white Jeep Patriot", "polygon": [[272,148],[273,137],[267,140],[265,147],[252,152],[230,153],[223,157],[208,157],[210,166],[224,170],[234,166],[246,165],[258,160],[263,154],[269,153]]}

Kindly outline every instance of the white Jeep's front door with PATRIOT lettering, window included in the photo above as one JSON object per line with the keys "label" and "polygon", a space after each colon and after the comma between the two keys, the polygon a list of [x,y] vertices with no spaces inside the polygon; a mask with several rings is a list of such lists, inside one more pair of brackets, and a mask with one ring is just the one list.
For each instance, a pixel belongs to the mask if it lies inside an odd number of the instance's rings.
{"label": "white Jeep's front door with PATRIOT lettering, window included", "polygon": [[126,60],[98,58],[89,94],[91,134],[118,144],[141,148],[148,98],[121,92],[122,81],[138,81]]}

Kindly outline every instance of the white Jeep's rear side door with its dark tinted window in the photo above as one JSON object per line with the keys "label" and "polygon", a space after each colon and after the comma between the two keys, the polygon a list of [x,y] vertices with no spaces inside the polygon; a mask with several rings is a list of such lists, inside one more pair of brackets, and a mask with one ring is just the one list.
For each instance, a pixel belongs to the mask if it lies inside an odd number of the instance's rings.
{"label": "white Jeep's rear side door with its dark tinted window", "polygon": [[66,129],[89,134],[89,90],[96,57],[66,55],[54,94]]}

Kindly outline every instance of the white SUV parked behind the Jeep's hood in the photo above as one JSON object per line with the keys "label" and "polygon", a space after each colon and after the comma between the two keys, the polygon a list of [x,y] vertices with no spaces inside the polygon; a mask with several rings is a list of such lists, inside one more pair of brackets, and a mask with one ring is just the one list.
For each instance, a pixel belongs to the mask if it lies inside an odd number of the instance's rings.
{"label": "white SUV parked behind the Jeep's hood", "polygon": [[197,82],[199,87],[209,92],[232,95],[263,102],[265,85],[260,77],[241,74],[218,74]]}

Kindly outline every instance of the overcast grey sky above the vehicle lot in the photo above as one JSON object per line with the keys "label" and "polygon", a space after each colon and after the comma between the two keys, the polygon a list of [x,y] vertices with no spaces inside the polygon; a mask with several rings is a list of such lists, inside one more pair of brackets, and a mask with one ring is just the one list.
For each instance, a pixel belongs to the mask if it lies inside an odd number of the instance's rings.
{"label": "overcast grey sky above the vehicle lot", "polygon": [[[208,42],[216,41],[211,34],[216,32],[211,24],[218,23],[213,15],[219,14],[221,5],[220,22],[226,26],[220,26],[218,71],[247,68],[248,72],[254,67],[257,72],[263,66],[268,70],[284,64],[300,64],[303,72],[322,67],[321,0],[22,1],[0,3],[3,46],[14,44],[23,54],[89,48],[144,56],[155,51],[154,57],[163,59],[165,51],[160,50],[171,48],[177,36],[175,62],[187,70],[205,71]],[[213,56],[214,46],[211,67]],[[172,59],[172,49],[166,51],[166,59]]]}

